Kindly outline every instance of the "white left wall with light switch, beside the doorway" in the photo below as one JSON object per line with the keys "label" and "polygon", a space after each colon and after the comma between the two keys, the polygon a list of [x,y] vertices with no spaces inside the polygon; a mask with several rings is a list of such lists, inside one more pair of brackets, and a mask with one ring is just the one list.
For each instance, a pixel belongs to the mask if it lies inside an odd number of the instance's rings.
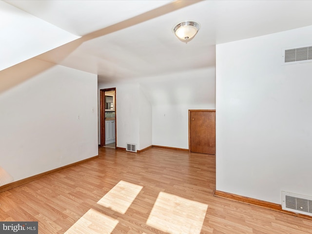
{"label": "white left wall with light switch, beside the doorway", "polygon": [[97,115],[94,74],[57,65],[6,90],[1,166],[17,181],[97,156]]}

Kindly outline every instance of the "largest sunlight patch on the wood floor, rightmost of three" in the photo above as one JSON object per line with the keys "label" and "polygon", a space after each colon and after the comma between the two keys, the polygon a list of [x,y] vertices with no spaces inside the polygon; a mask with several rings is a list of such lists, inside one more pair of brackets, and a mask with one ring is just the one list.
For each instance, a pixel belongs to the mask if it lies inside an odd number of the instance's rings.
{"label": "largest sunlight patch on the wood floor, rightmost of three", "polygon": [[160,192],[146,224],[170,234],[200,234],[208,205]]}

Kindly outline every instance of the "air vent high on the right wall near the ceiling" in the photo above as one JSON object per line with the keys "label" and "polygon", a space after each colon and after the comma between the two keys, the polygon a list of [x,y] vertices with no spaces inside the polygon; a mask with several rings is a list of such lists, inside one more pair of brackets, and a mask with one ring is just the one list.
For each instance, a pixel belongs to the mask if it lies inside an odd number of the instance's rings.
{"label": "air vent high on the right wall near the ceiling", "polygon": [[284,48],[282,50],[283,64],[298,62],[312,62],[312,45],[299,48]]}

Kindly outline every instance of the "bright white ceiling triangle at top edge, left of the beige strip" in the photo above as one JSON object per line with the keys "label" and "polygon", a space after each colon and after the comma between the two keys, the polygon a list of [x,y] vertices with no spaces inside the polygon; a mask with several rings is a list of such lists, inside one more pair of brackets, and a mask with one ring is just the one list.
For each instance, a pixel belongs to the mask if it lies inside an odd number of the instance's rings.
{"label": "bright white ceiling triangle at top edge, left of the beige strip", "polygon": [[171,0],[5,0],[74,35],[83,36]]}

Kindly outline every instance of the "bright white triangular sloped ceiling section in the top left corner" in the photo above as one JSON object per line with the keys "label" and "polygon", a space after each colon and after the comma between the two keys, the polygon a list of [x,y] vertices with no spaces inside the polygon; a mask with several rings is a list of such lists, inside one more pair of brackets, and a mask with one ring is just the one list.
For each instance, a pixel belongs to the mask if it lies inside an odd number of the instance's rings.
{"label": "bright white triangular sloped ceiling section in the top left corner", "polygon": [[0,71],[79,38],[3,1],[0,35]]}

